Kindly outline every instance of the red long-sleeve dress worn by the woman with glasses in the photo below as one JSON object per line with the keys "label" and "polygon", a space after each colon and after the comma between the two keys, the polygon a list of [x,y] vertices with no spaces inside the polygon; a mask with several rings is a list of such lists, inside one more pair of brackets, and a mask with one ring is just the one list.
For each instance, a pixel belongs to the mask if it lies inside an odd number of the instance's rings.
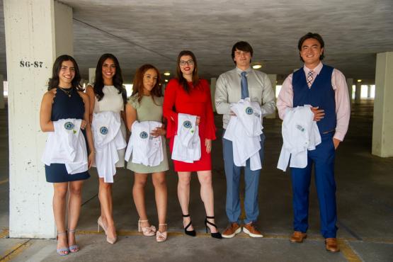
{"label": "red long-sleeve dress worn by the woman with glasses", "polygon": [[200,160],[193,163],[173,160],[176,172],[212,170],[212,158],[207,154],[205,138],[216,139],[215,120],[212,109],[210,86],[205,79],[200,79],[197,86],[188,83],[190,92],[187,93],[177,79],[171,79],[164,93],[163,114],[167,120],[166,137],[170,140],[169,148],[173,149],[173,141],[177,132],[178,113],[197,115],[200,117]]}

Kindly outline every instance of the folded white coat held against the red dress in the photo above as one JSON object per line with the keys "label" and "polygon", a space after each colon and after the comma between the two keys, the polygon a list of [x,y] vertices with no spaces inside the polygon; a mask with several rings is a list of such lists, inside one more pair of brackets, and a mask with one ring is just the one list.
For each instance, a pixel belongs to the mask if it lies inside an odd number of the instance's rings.
{"label": "folded white coat held against the red dress", "polygon": [[193,163],[200,159],[200,137],[196,115],[178,113],[178,130],[173,141],[172,159]]}

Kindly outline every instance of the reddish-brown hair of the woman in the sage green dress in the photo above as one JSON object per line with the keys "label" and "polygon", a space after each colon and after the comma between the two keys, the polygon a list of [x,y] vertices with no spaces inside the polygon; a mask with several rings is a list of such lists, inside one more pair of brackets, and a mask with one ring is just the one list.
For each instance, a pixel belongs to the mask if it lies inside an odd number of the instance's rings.
{"label": "reddish-brown hair of the woman in the sage green dress", "polygon": [[134,95],[137,96],[138,102],[142,100],[142,96],[143,96],[143,76],[144,73],[146,73],[147,70],[149,69],[154,69],[156,70],[157,73],[156,84],[154,85],[152,91],[150,92],[152,95],[153,102],[156,103],[156,101],[154,101],[154,97],[162,96],[161,76],[159,74],[159,69],[156,69],[156,67],[154,67],[154,65],[152,64],[144,64],[142,65],[142,67],[139,67],[137,69],[137,72],[135,72],[134,81],[132,83],[132,90],[133,90],[132,96]]}

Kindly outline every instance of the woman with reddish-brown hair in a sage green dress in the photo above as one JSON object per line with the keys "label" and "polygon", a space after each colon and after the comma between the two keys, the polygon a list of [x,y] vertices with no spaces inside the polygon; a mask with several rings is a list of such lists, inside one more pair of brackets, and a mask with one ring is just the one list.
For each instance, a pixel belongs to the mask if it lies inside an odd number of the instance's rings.
{"label": "woman with reddish-brown hair in a sage green dress", "polygon": [[[157,121],[162,123],[162,103],[164,97],[161,92],[160,74],[156,67],[151,64],[144,64],[137,69],[133,83],[133,93],[125,108],[127,118],[127,128],[131,130],[135,121]],[[164,124],[157,127],[151,133],[153,137],[161,135],[164,160],[158,166],[144,166],[143,164],[132,163],[131,159],[127,163],[127,169],[135,172],[132,195],[135,207],[139,215],[138,231],[144,236],[156,235],[156,241],[162,242],[167,237],[166,227],[166,205],[167,189],[165,171],[169,169],[168,158],[166,156],[166,130]],[[134,149],[132,154],[137,154]],[[136,151],[136,152],[135,152]],[[147,176],[152,173],[152,181],[155,190],[156,206],[159,217],[159,229],[149,224],[146,207],[144,205],[144,186],[146,186]]]}

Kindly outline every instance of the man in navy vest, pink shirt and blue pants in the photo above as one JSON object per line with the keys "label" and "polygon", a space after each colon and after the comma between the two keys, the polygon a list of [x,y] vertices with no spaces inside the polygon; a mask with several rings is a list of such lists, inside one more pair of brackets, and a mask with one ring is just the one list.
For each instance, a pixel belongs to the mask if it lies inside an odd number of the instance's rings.
{"label": "man in navy vest, pink shirt and blue pants", "polygon": [[351,115],[348,88],[340,71],[321,63],[324,59],[321,35],[307,33],[300,38],[297,47],[304,66],[285,79],[278,96],[278,113],[283,119],[286,108],[311,105],[322,142],[315,150],[307,152],[304,169],[291,168],[295,232],[290,241],[301,243],[307,237],[309,184],[314,164],[321,234],[326,239],[326,250],[337,252],[340,249],[336,240],[334,157],[348,130]]}

